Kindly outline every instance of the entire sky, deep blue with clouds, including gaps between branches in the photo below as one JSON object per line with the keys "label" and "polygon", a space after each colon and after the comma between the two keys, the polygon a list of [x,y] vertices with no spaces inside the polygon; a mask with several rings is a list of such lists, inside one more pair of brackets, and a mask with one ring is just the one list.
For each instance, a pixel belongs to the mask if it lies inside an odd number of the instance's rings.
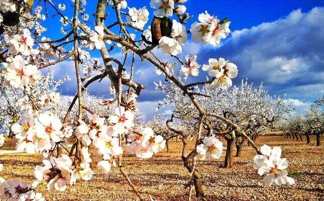
{"label": "entire sky, deep blue with clouds, including gaps between branches", "polygon": [[[61,1],[53,2],[61,3]],[[64,14],[71,19],[70,2],[65,2],[67,10]],[[129,7],[148,6],[150,16],[146,27],[149,26],[153,18],[153,12],[151,12],[153,10],[149,8],[150,1],[129,0],[127,2]],[[189,40],[183,47],[183,53],[179,55],[181,58],[185,54],[194,53],[198,55],[199,64],[206,64],[208,58],[224,57],[238,66],[239,76],[233,80],[234,84],[239,85],[246,77],[254,82],[255,86],[263,81],[270,95],[287,93],[287,98],[290,102],[294,102],[298,113],[307,110],[315,98],[324,94],[324,0],[188,0],[184,5],[187,7],[187,12],[194,16],[186,25],[187,29],[191,23],[197,21],[199,13],[207,10],[209,14],[214,14],[220,19],[228,17],[231,21],[232,32],[230,37],[217,48],[201,46]],[[105,23],[106,25],[115,21],[114,11],[111,8],[107,11],[112,17],[107,17],[109,20]],[[95,13],[95,4],[91,4],[91,1],[88,1],[86,12],[89,15]],[[51,11],[49,13],[51,16]],[[62,36],[58,33],[61,28],[60,24],[52,23],[54,20],[57,22],[56,18],[59,19],[55,16],[53,20],[49,19],[44,24],[48,28],[45,35],[51,39]],[[164,61],[173,61],[159,50],[155,51]],[[120,49],[116,49],[111,56],[119,58],[119,52]],[[99,57],[98,51],[92,51],[90,54],[92,57]],[[127,65],[129,63],[130,61]],[[63,62],[53,68],[57,78],[63,77],[66,73],[70,75],[71,80],[60,87],[62,93],[68,95],[74,94],[76,90],[71,65],[73,65],[71,62]],[[145,115],[155,114],[153,109],[148,108],[154,108],[164,94],[154,89],[153,81],[163,81],[164,77],[156,76],[155,67],[148,62],[141,62],[137,59],[135,66],[137,66],[134,76],[136,81],[147,86],[138,99],[140,108],[143,109]],[[189,81],[204,80],[206,75],[200,70],[200,75],[190,78]],[[107,94],[108,85],[109,81],[105,80],[90,86],[88,91],[98,96]],[[160,112],[168,113],[167,109]]]}

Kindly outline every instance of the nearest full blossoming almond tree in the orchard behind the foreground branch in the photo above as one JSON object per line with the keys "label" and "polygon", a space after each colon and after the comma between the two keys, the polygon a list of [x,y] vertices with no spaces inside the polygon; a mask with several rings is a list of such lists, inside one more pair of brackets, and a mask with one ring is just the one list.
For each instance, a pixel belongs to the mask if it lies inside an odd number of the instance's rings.
{"label": "nearest full blossoming almond tree in the orchard behind the foreground branch", "polygon": [[[162,84],[157,86],[168,92],[166,99],[160,103],[159,107],[172,104],[175,107],[174,117],[186,122],[191,120],[190,124],[197,123],[198,114],[193,109],[194,106],[189,105],[190,100],[184,99],[181,91],[176,89],[171,91]],[[211,89],[206,85],[201,90],[196,88],[195,93],[201,94],[198,99],[203,107],[240,125],[241,129],[251,138],[257,137],[266,128],[273,127],[276,121],[291,111],[282,97],[276,97],[273,100],[263,89],[262,84],[257,89],[253,89],[253,84],[248,84],[244,80],[242,80],[241,88],[234,86],[232,90],[222,90]],[[237,148],[236,155],[239,156],[246,138],[241,135],[240,131],[215,118],[206,119],[203,125],[207,136],[213,134],[227,141],[224,167],[233,167],[234,143]]]}

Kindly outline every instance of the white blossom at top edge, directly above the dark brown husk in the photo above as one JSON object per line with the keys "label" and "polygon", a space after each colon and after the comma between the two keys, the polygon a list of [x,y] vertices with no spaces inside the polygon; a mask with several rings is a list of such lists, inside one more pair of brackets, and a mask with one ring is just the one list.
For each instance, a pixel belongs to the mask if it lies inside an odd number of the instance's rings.
{"label": "white blossom at top edge, directly above the dark brown husk", "polygon": [[157,9],[153,14],[158,18],[170,17],[173,15],[173,0],[151,0],[150,6],[153,9]]}

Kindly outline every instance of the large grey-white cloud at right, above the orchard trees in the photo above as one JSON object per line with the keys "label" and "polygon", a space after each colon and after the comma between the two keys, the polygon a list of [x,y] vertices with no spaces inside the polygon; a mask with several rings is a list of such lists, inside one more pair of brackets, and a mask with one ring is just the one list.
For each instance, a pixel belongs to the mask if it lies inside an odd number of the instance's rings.
{"label": "large grey-white cloud at right, above the orchard trees", "polygon": [[257,84],[264,81],[270,94],[287,92],[288,97],[313,101],[324,90],[323,16],[324,8],[296,10],[277,21],[234,31],[203,60],[217,55],[236,63],[235,84],[249,77]]}

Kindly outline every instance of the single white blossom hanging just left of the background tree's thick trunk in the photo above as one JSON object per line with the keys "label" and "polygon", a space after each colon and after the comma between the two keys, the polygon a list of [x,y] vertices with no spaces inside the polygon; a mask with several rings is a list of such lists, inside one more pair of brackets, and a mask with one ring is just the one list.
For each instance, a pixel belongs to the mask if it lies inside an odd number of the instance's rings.
{"label": "single white blossom hanging just left of the background tree's thick trunk", "polygon": [[207,158],[220,158],[223,154],[223,143],[215,136],[205,137],[203,144],[197,146],[197,153],[201,154],[201,160]]}

